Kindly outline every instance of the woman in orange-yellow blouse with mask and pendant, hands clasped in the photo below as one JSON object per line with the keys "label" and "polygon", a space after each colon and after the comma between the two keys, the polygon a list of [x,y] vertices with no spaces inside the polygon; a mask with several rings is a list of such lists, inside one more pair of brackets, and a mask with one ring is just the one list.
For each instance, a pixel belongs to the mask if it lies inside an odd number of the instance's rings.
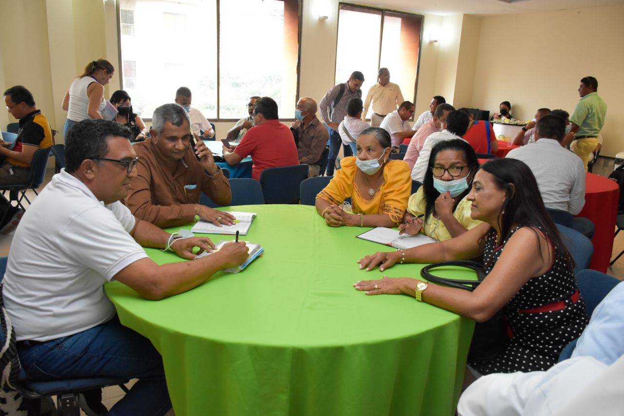
{"label": "woman in orange-yellow blouse with mask and pendant, hands clasped", "polygon": [[[396,227],[403,220],[412,180],[409,165],[390,160],[386,130],[371,127],[358,137],[357,156],[341,160],[341,169],[316,195],[316,211],[329,226]],[[351,208],[343,205],[351,198]]]}

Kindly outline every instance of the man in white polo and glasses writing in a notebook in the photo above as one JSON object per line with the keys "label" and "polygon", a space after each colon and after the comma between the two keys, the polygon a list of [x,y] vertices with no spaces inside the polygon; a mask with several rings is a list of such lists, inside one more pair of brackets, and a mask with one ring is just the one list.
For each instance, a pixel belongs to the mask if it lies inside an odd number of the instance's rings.
{"label": "man in white polo and glasses writing in a notebook", "polygon": [[66,168],[17,226],[2,294],[27,379],[138,378],[112,412],[157,415],[171,407],[162,358],[147,338],[120,324],[102,285],[117,280],[147,299],[162,299],[243,263],[247,248],[232,243],[197,261],[154,263],[142,246],[193,259],[195,246],[213,244],[170,235],[122,205],[137,175],[131,136],[109,120],[72,128]]}

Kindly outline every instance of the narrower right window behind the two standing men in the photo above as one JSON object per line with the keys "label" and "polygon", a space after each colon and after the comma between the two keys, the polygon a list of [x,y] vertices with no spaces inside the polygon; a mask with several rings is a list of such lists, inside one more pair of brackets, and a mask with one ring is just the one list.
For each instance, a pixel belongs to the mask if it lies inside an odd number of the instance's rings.
{"label": "narrower right window behind the two standing men", "polygon": [[[361,71],[366,79],[364,99],[377,82],[379,68],[386,67],[404,99],[414,102],[421,26],[422,16],[418,14],[340,4],[336,84],[346,82],[354,70]],[[367,117],[372,112],[369,109]]]}

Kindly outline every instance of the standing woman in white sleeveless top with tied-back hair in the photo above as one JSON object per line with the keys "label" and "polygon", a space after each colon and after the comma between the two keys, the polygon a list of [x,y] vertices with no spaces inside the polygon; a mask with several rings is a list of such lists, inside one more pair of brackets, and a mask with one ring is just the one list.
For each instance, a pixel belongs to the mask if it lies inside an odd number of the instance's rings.
{"label": "standing woman in white sleeveless top with tied-back hair", "polygon": [[98,111],[106,107],[104,85],[109,83],[114,72],[115,68],[109,61],[98,59],[89,62],[84,74],[74,79],[62,104],[63,110],[67,111],[64,137],[67,138],[67,133],[77,122],[102,118]]}

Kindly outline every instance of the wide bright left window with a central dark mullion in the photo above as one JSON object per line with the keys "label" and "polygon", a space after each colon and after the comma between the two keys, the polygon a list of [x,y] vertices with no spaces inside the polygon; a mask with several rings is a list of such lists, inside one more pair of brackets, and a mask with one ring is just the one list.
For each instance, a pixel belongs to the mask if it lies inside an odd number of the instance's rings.
{"label": "wide bright left window with a central dark mullion", "polygon": [[120,0],[119,7],[122,85],[142,117],[173,102],[182,86],[211,121],[245,117],[251,95],[272,97],[280,110],[295,105],[299,0]]}

